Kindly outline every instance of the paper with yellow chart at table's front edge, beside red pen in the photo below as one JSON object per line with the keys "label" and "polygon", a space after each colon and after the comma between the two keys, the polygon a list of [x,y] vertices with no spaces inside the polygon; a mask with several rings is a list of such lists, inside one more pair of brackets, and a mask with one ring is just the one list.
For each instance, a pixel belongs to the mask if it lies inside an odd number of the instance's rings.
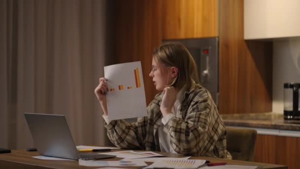
{"label": "paper with yellow chart at table's front edge, beside red pen", "polygon": [[197,169],[204,165],[206,160],[161,160],[156,161],[143,169],[172,168],[172,169]]}

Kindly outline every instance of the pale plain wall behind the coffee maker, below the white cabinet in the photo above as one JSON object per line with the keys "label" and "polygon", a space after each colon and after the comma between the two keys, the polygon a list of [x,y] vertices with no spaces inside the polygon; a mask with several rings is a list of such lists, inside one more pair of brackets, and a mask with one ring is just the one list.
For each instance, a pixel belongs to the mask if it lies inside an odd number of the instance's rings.
{"label": "pale plain wall behind the coffee maker, below the white cabinet", "polygon": [[283,84],[300,83],[300,38],[273,42],[272,112],[283,114]]}

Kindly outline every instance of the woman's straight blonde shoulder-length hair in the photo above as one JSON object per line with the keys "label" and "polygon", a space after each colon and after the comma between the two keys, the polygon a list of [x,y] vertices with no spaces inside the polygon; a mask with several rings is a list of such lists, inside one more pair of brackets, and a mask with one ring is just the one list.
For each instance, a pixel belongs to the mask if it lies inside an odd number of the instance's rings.
{"label": "woman's straight blonde shoulder-length hair", "polygon": [[196,63],[183,44],[178,42],[164,43],[153,51],[152,56],[157,63],[178,69],[177,77],[169,86],[182,88],[186,85],[187,90],[192,86],[192,81],[200,84]]}

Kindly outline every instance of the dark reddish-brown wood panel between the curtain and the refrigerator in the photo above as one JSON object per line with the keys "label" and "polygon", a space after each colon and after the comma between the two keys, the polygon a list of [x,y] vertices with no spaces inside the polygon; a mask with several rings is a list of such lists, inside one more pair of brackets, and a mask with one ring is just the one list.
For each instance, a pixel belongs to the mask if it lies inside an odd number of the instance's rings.
{"label": "dark reddish-brown wood panel between the curtain and the refrigerator", "polygon": [[147,105],[158,93],[149,77],[152,52],[161,44],[161,0],[116,0],[116,61],[142,62]]}

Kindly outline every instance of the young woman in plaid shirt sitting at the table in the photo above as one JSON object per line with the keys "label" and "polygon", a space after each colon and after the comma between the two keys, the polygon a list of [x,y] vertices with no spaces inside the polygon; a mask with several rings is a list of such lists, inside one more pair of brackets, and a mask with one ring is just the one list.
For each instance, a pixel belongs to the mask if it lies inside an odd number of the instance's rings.
{"label": "young woman in plaid shirt sitting at the table", "polygon": [[[199,84],[195,62],[181,43],[166,43],[152,54],[152,78],[160,92],[136,123],[107,118],[105,78],[95,94],[108,136],[120,148],[229,158],[226,129],[207,89]],[[120,110],[120,113],[121,110]]]}

